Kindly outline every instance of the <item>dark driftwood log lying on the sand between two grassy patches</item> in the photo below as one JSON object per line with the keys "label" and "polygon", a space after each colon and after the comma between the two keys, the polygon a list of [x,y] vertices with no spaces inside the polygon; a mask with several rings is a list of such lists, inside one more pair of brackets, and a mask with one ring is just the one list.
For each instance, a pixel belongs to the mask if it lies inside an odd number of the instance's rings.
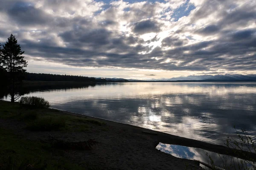
{"label": "dark driftwood log lying on the sand between two grassy patches", "polygon": [[99,142],[95,139],[89,139],[83,142],[66,142],[64,140],[56,139],[54,136],[49,135],[52,147],[65,150],[90,150]]}

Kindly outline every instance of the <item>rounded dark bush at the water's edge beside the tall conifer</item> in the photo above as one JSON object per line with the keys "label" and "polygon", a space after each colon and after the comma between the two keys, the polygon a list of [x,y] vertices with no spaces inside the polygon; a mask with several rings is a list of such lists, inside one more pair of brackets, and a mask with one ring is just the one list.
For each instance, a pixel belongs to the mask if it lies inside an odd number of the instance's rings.
{"label": "rounded dark bush at the water's edge beside the tall conifer", "polygon": [[35,96],[22,96],[20,99],[20,105],[28,105],[36,108],[49,108],[50,104],[43,97]]}

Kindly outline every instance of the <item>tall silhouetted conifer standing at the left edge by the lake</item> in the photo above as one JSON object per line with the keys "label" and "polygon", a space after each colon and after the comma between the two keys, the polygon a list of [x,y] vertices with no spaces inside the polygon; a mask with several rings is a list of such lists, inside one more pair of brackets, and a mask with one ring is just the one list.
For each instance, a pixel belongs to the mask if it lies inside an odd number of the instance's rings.
{"label": "tall silhouetted conifer standing at the left edge by the lake", "polygon": [[21,81],[21,75],[26,71],[24,68],[27,62],[22,56],[23,53],[15,36],[11,34],[0,53],[0,67],[9,74],[11,102],[15,102],[20,97],[15,94],[15,86]]}

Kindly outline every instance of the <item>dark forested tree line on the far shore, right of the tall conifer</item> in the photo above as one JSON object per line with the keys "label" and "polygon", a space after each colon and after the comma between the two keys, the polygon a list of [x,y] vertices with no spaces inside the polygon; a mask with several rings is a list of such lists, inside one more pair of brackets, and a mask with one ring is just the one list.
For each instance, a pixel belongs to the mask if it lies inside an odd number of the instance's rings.
{"label": "dark forested tree line on the far shore, right of the tall conifer", "polygon": [[44,74],[44,73],[25,73],[24,80],[29,81],[65,81],[65,82],[96,82],[94,77]]}

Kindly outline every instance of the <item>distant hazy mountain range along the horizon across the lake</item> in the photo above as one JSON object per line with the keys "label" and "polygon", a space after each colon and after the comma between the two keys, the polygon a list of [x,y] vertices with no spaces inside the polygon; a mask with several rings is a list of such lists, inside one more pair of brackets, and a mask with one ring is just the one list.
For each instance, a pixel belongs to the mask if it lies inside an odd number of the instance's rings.
{"label": "distant hazy mountain range along the horizon across the lake", "polygon": [[170,79],[166,79],[166,78],[160,78],[160,79],[148,79],[148,80],[139,80],[139,79],[122,79],[122,78],[117,78],[117,77],[113,77],[113,78],[96,78],[96,79],[106,79],[108,81],[130,81],[130,82],[146,82],[146,81],[256,81],[256,74],[247,74],[247,75],[242,75],[242,74],[225,74],[225,75],[201,75],[201,76],[187,76],[187,77],[173,77]]}

